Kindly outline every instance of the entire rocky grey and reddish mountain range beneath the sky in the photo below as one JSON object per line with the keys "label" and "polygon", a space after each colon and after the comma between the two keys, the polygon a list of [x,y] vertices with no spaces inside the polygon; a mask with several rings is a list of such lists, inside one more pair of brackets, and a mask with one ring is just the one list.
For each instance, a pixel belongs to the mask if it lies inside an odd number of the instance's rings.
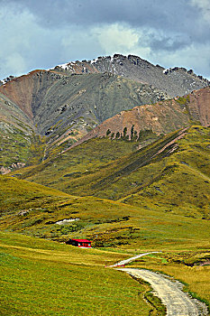
{"label": "entire rocky grey and reddish mountain range beneath the sky", "polygon": [[0,118],[6,173],[96,136],[143,146],[192,122],[209,125],[209,81],[133,55],[68,62],[3,80]]}

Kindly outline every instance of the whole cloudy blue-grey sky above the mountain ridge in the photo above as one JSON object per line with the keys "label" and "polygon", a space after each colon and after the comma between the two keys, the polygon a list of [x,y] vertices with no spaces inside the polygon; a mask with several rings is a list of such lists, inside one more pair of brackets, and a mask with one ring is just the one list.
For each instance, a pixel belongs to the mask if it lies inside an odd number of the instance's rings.
{"label": "whole cloudy blue-grey sky above the mountain ridge", "polygon": [[0,0],[0,79],[135,54],[210,79],[210,0]]}

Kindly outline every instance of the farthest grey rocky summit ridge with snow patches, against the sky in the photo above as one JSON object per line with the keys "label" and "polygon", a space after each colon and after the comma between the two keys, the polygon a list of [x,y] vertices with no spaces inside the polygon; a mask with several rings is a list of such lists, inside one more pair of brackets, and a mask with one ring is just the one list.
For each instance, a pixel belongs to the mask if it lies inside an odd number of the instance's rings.
{"label": "farthest grey rocky summit ridge with snow patches, against the sky", "polygon": [[134,55],[114,54],[113,57],[98,57],[96,60],[70,61],[56,66],[53,70],[65,73],[111,72],[160,88],[172,98],[210,85],[210,81],[202,76],[196,76],[193,70],[179,67],[166,70]]}

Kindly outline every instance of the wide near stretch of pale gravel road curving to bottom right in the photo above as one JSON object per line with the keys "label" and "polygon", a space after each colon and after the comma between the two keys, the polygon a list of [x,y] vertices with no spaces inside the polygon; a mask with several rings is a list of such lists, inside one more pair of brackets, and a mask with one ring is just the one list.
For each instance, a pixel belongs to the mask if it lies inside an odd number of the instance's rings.
{"label": "wide near stretch of pale gravel road curving to bottom right", "polygon": [[135,268],[118,268],[134,277],[151,284],[153,293],[158,296],[167,308],[167,316],[205,316],[208,315],[204,303],[192,299],[182,292],[182,284],[172,282],[163,274]]}

